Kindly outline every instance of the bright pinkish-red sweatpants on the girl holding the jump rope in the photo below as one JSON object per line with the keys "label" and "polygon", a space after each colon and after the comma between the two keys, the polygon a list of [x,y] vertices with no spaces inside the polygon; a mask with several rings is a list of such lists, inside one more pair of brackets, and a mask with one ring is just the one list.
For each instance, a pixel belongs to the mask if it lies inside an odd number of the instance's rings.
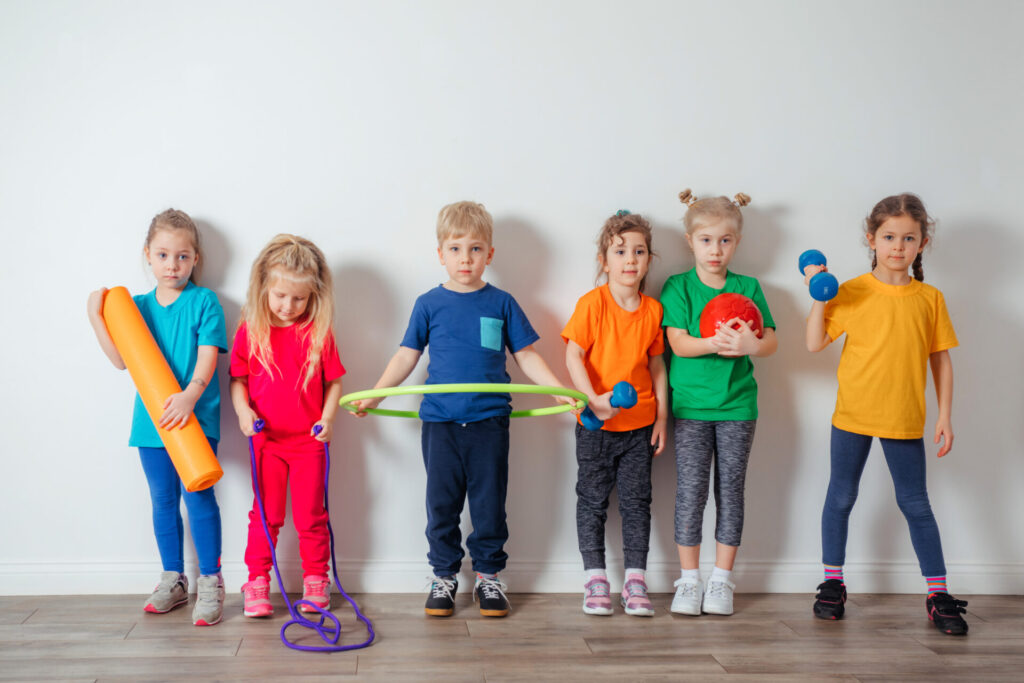
{"label": "bright pinkish-red sweatpants on the girl holding the jump rope", "polygon": [[[299,556],[303,577],[328,575],[331,539],[328,533],[327,511],[324,509],[324,446],[301,451],[284,447],[266,438],[256,438],[256,471],[259,475],[266,523],[274,547],[285,522],[285,502],[292,489],[292,521],[299,536]],[[270,548],[263,532],[255,496],[249,512],[249,542],[246,545],[246,565],[249,580],[270,575]]]}

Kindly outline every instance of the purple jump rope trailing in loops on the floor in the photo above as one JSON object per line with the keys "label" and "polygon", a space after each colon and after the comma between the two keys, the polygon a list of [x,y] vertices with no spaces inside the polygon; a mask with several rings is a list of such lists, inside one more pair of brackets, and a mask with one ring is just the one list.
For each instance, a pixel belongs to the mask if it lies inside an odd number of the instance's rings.
{"label": "purple jump rope trailing in loops on the floor", "polygon": [[[257,433],[263,431],[264,426],[265,423],[262,420],[257,420],[256,422],[253,423],[253,429]],[[314,433],[318,434],[324,428],[321,427],[319,425],[316,425],[313,429]],[[331,571],[334,574],[334,585],[338,587],[338,592],[341,593],[346,600],[348,600],[348,604],[352,605],[352,609],[355,610],[355,615],[358,617],[358,620],[367,625],[367,632],[370,634],[370,637],[367,638],[366,641],[358,643],[356,645],[338,645],[338,640],[341,639],[341,622],[339,622],[338,617],[335,616],[332,612],[324,609],[319,605],[314,605],[308,600],[296,600],[293,603],[291,600],[288,599],[288,593],[285,592],[285,582],[282,581],[281,569],[278,568],[278,553],[274,551],[273,541],[270,539],[270,528],[267,526],[266,523],[266,511],[263,509],[263,496],[260,494],[259,477],[256,474],[256,447],[253,445],[252,436],[249,437],[249,462],[250,465],[252,466],[252,473],[253,473],[253,493],[256,494],[256,502],[259,504],[259,518],[260,521],[263,522],[263,532],[266,533],[266,542],[270,546],[270,558],[273,560],[273,573],[278,577],[278,588],[281,589],[281,596],[285,598],[285,604],[288,605],[288,611],[292,615],[292,621],[288,622],[287,624],[285,624],[285,626],[281,627],[281,642],[285,643],[285,645],[291,647],[293,650],[305,650],[308,652],[343,652],[345,650],[357,650],[374,642],[374,637],[375,637],[374,625],[370,623],[370,620],[367,618],[367,616],[361,611],[359,611],[359,606],[355,604],[355,600],[350,598],[348,596],[348,593],[345,593],[345,589],[341,587],[341,582],[338,580],[338,562],[335,560],[334,557],[334,529],[331,527],[331,510],[328,507],[328,500],[327,500],[328,499],[327,488],[328,488],[328,483],[331,479],[330,446],[328,446],[327,443],[324,443],[324,462],[326,465],[324,468],[324,510],[328,513],[327,530],[328,533],[331,535]],[[297,605],[300,604],[309,605],[314,610],[319,612],[321,615],[319,623],[312,622],[303,616],[301,613],[299,613]],[[325,625],[328,618],[330,618],[331,622],[333,622],[333,624]],[[288,638],[285,636],[285,631],[287,631],[288,627],[292,626],[293,624],[298,624],[307,629],[312,629],[317,634],[319,634],[319,637],[324,640],[325,643],[330,643],[330,644],[299,645],[298,643],[293,643],[289,641]]]}

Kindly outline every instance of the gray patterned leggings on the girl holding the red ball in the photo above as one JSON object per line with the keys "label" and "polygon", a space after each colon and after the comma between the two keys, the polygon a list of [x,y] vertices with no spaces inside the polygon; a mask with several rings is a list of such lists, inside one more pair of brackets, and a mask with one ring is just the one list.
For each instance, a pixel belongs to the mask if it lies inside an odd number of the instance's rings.
{"label": "gray patterned leggings on the girl holding the red ball", "polygon": [[757,420],[676,420],[676,543],[699,546],[715,464],[715,540],[738,546],[743,486]]}

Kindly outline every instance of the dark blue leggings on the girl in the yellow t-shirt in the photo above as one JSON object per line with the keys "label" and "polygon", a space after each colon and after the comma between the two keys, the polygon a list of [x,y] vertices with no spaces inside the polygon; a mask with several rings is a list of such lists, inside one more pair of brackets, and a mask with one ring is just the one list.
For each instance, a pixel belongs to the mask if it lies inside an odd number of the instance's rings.
{"label": "dark blue leggings on the girl in the yellow t-shirt", "polygon": [[[896,488],[896,504],[910,527],[910,542],[918,554],[921,572],[926,577],[944,577],[939,526],[928,502],[925,477],[925,440],[921,438],[880,438],[886,464]],[[833,427],[831,476],[825,508],[821,512],[821,559],[825,564],[842,566],[846,561],[846,538],[850,511],[857,500],[860,475],[867,462],[871,437]]]}

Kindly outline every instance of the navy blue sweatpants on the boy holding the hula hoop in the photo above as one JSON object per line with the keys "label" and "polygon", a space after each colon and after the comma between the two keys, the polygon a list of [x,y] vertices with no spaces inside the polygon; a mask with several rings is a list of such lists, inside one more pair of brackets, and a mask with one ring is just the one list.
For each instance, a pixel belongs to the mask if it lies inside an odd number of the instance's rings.
{"label": "navy blue sweatpants on the boy holding the hula hoop", "polygon": [[466,547],[473,570],[501,571],[508,560],[508,416],[465,424],[424,422],[422,444],[427,468],[427,560],[434,575],[450,577],[462,566],[459,521],[467,498],[473,532]]}

